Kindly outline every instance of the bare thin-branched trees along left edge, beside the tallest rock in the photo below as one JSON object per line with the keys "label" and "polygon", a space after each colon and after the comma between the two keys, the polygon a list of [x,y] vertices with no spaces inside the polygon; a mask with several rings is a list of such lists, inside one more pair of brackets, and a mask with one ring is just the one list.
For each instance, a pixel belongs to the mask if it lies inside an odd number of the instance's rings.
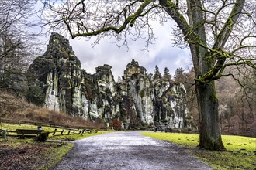
{"label": "bare thin-branched trees along left edge, beside the tallest rock", "polygon": [[26,70],[32,59],[40,55],[36,40],[39,33],[34,33],[40,32],[36,21],[36,2],[0,1],[0,112],[4,107],[13,105],[5,91],[20,96],[26,93]]}

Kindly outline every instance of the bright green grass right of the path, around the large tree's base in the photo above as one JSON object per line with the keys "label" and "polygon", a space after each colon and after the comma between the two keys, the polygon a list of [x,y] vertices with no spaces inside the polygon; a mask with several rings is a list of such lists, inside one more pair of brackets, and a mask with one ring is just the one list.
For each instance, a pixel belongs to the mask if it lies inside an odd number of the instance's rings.
{"label": "bright green grass right of the path, around the large tree's base", "polygon": [[162,132],[141,134],[191,148],[192,155],[215,169],[256,169],[256,138],[222,135],[227,151],[206,151],[196,148],[199,145],[199,134]]}

